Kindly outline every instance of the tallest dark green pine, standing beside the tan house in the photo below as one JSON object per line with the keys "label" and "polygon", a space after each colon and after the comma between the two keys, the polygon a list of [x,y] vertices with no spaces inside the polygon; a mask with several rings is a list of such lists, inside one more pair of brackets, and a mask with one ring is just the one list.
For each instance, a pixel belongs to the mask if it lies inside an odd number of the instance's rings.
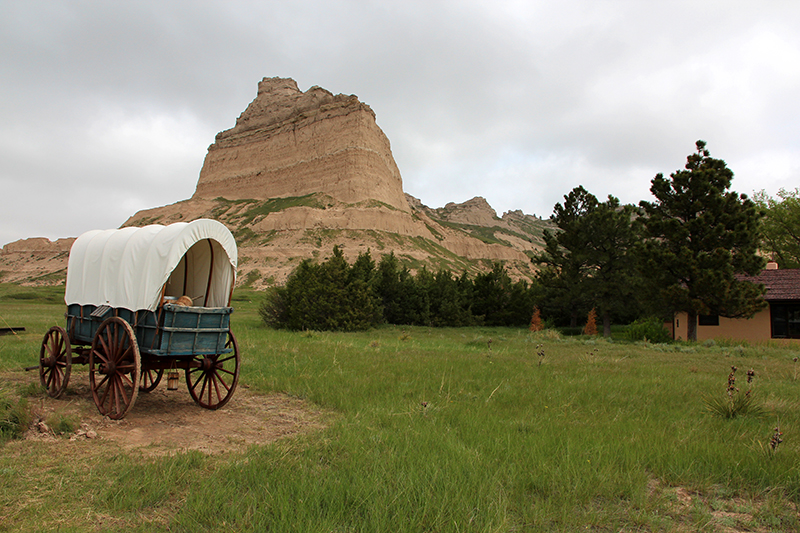
{"label": "tallest dark green pine, standing beside the tan house", "polygon": [[688,315],[688,338],[697,340],[697,316],[750,317],[764,306],[763,286],[737,279],[757,274],[761,212],[745,195],[729,191],[733,172],[710,157],[706,144],[684,170],[653,178],[655,202],[640,202],[647,241],[647,272],[673,311]]}

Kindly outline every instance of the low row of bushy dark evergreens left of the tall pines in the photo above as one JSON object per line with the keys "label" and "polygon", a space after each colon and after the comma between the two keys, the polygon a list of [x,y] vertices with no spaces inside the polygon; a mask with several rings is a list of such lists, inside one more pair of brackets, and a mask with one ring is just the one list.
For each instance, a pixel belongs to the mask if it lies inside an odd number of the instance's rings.
{"label": "low row of bushy dark evergreens left of the tall pines", "polygon": [[534,290],[513,281],[495,263],[470,278],[448,269],[412,274],[390,253],[376,265],[369,250],[350,265],[341,248],[321,263],[306,259],[259,308],[264,322],[292,330],[367,329],[382,323],[409,326],[524,326]]}

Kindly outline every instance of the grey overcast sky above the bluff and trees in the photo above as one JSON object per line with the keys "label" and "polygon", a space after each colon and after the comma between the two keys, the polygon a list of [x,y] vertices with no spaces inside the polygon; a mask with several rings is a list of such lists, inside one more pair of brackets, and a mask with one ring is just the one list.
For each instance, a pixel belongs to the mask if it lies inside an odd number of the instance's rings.
{"label": "grey overcast sky above the bluff and trees", "polygon": [[369,104],[404,190],[548,217],[697,139],[800,186],[800,2],[0,0],[0,245],[189,198],[263,77]]}

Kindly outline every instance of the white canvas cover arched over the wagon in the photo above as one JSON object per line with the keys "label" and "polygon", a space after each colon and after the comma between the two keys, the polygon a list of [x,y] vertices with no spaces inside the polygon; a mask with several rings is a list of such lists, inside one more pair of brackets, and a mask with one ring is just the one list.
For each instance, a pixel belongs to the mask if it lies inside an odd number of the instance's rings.
{"label": "white canvas cover arched over the wagon", "polygon": [[165,291],[226,307],[237,260],[233,235],[216,220],[88,231],[70,250],[64,300],[155,311]]}

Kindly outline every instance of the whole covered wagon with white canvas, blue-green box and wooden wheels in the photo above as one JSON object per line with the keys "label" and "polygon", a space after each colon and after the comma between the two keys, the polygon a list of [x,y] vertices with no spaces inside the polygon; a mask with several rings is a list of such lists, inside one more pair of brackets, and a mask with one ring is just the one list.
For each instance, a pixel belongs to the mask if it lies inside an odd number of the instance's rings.
{"label": "whole covered wagon with white canvas, blue-green box and wooden wheels", "polygon": [[239,380],[230,328],[237,249],[215,220],[95,230],[72,245],[65,327],[44,336],[39,378],[52,397],[73,364],[88,364],[101,414],[119,419],[165,371],[183,370],[194,401],[218,409]]}

